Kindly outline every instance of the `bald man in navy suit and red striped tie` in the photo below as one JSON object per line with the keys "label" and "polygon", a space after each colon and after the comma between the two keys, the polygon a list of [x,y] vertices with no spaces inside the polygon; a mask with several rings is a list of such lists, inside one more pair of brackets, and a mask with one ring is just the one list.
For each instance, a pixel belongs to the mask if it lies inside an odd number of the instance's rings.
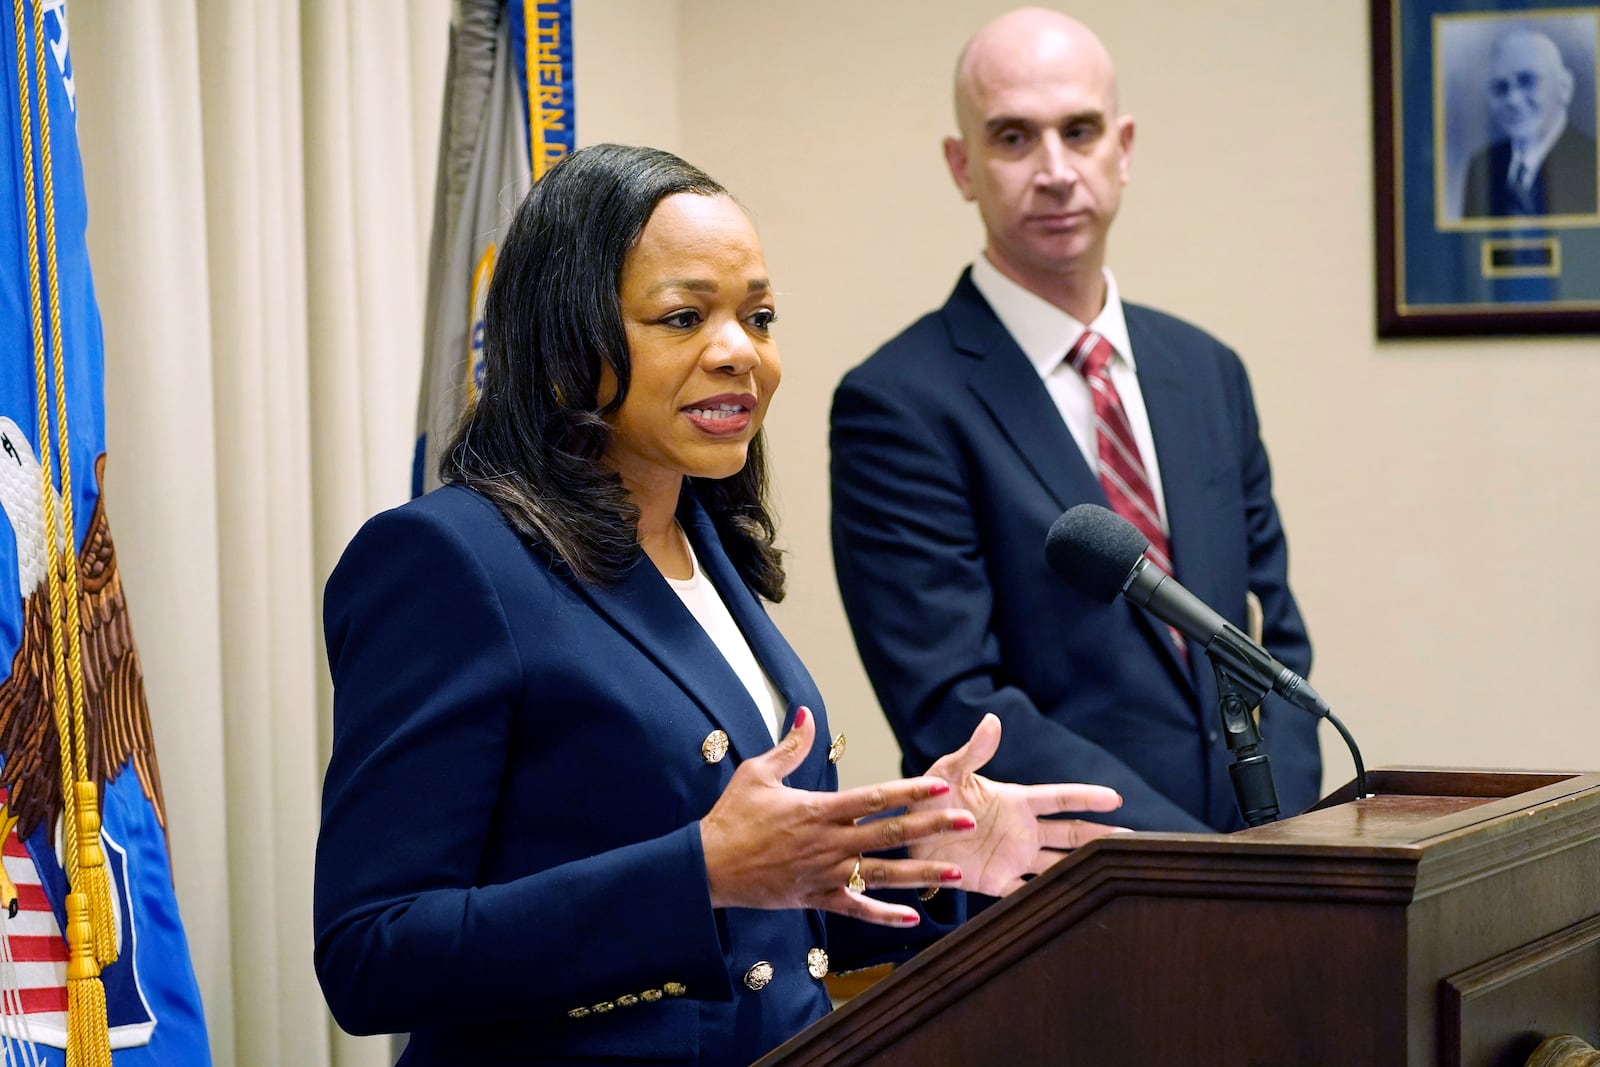
{"label": "bald man in navy suit and red striped tie", "polygon": [[[1000,777],[1112,785],[1133,829],[1237,829],[1205,651],[1074,592],[1043,549],[1074,504],[1133,515],[1152,558],[1242,629],[1253,592],[1266,645],[1307,672],[1245,368],[1125,304],[1106,266],[1134,122],[1088,27],[1035,8],[984,26],[955,112],[944,157],[982,254],[834,395],[834,558],[862,662],[907,771],[995,712]],[[1315,721],[1270,697],[1261,725],[1298,813],[1320,785]]]}

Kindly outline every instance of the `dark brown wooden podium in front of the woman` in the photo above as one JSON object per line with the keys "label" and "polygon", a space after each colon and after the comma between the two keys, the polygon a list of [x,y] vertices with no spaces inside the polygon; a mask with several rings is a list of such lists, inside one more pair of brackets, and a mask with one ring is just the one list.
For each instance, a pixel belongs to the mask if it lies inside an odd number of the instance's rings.
{"label": "dark brown wooden podium in front of the woman", "polygon": [[1600,1043],[1600,774],[1378,769],[1078,849],[762,1067],[1510,1067]]}

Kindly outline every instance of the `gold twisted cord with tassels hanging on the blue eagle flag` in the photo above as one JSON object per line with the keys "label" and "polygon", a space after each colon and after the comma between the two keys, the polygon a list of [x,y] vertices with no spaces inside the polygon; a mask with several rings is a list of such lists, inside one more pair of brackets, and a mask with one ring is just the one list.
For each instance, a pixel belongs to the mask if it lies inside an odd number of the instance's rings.
{"label": "gold twisted cord with tassels hanging on the blue eagle flag", "polygon": [[[27,282],[32,312],[34,384],[38,400],[40,470],[45,504],[46,585],[50,592],[50,648],[53,702],[61,752],[64,798],[62,830],[69,894],[67,923],[67,1067],[110,1067],[110,1037],[102,963],[115,958],[115,920],[110,888],[99,848],[99,798],[88,776],[88,731],[83,709],[83,659],[80,649],[77,531],[72,523],[72,458],[67,443],[66,362],[61,341],[61,291],[56,262],[56,211],[50,158],[50,96],[45,66],[45,13],[34,11],[34,77],[29,77],[22,0],[13,2],[16,29],[18,112],[22,125],[22,182],[27,195]],[[43,211],[34,184],[34,122],[27,86],[37,83],[38,144],[43,173]],[[38,264],[38,214],[45,218],[45,258],[50,288],[50,349],[53,374],[46,374]],[[51,438],[50,395],[56,424]],[[56,525],[54,466],[61,467],[61,526]],[[58,536],[58,530],[61,531]],[[66,581],[66,589],[62,589]],[[69,648],[62,648],[62,632]],[[70,689],[69,689],[70,677]],[[109,952],[102,949],[109,947]]]}

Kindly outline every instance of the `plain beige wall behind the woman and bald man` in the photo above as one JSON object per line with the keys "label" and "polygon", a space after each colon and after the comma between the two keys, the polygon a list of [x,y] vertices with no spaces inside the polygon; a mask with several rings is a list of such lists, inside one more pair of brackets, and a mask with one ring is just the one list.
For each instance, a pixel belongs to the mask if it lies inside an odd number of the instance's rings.
{"label": "plain beige wall behind the woman and bald man", "polygon": [[[850,784],[898,757],[832,579],[829,397],[979,246],[939,138],[960,43],[1006,6],[578,5],[581,138],[683,152],[762,229],[786,370],[776,614],[851,736]],[[1250,366],[1314,680],[1368,765],[1600,768],[1600,342],[1376,341],[1366,3],[1062,10],[1104,37],[1138,118],[1114,269]],[[1331,787],[1350,765],[1323,744]]]}

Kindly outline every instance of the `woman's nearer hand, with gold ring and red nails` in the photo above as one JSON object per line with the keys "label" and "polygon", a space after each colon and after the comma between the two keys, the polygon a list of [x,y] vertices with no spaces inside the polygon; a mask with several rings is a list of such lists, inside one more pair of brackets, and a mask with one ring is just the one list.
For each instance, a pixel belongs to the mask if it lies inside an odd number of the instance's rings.
{"label": "woman's nearer hand, with gold ring and red nails", "polygon": [[936,861],[866,856],[880,849],[976,829],[963,808],[906,813],[858,822],[950,790],[938,777],[910,777],[843,792],[784,785],[816,741],[816,717],[795,712],[776,745],[733,773],[701,819],[701,845],[714,907],[813,907],[883,926],[914,926],[915,909],[875,901],[846,888],[856,864],[869,888],[949,885],[962,872]]}

